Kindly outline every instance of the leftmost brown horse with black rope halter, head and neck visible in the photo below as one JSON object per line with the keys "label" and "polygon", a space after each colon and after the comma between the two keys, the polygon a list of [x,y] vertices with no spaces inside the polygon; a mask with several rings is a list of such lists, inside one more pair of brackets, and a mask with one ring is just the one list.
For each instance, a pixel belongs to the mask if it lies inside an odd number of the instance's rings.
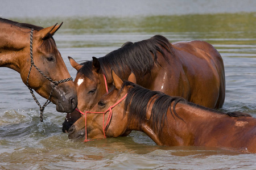
{"label": "leftmost brown horse with black rope halter, head and neck visible", "polygon": [[[32,89],[58,112],[69,113],[77,107],[77,92],[52,37],[61,25],[43,28],[0,18],[0,67],[17,71],[33,97]],[[38,103],[40,111],[48,103]]]}

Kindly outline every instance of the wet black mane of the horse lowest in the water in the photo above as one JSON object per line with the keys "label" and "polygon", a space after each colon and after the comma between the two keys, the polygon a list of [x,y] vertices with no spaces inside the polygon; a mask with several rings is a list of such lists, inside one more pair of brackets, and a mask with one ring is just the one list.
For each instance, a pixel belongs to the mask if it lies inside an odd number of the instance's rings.
{"label": "wet black mane of the horse lowest in the water", "polygon": [[[180,120],[184,121],[183,118],[181,118],[179,114],[177,114],[177,112],[175,111],[176,104],[179,102],[188,104],[192,107],[203,109],[205,111],[214,112],[217,114],[223,114],[230,117],[242,117],[242,116],[251,117],[250,114],[242,113],[242,112],[225,113],[225,112],[216,111],[214,109],[209,109],[209,108],[188,102],[183,97],[168,96],[163,92],[151,91],[131,82],[124,82],[120,93],[122,92],[122,89],[125,86],[130,86],[130,88],[128,90],[128,94],[125,100],[123,116],[125,116],[126,111],[129,111],[129,115],[128,115],[129,120],[138,120],[139,124],[143,124],[143,122],[145,122],[145,120],[147,119],[146,113],[147,113],[148,102],[152,102],[154,99],[155,101],[152,106],[151,117],[148,121],[150,122],[152,129],[159,131],[160,133],[162,132],[164,122],[166,122],[165,120],[167,117],[168,109],[170,109],[171,115],[172,117],[174,117],[174,119],[175,117],[177,117]],[[173,102],[174,102],[174,105],[172,107],[173,109],[173,112],[172,112],[171,104]]]}

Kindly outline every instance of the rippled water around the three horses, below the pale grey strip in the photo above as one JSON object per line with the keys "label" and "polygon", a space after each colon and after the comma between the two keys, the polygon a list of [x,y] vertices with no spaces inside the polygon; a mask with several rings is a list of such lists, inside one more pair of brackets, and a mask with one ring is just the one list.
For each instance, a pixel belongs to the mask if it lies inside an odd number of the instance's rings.
{"label": "rippled water around the three horses, below the pale grey strip", "polygon": [[[61,18],[26,18],[23,14],[15,20],[43,27],[64,21],[54,37],[73,78],[76,70],[67,56],[76,61],[101,57],[126,41],[141,41],[156,34],[171,42],[208,41],[224,59],[226,99],[222,110],[256,117],[255,12]],[[18,73],[0,68],[0,89],[0,169],[256,169],[256,154],[224,148],[156,146],[135,131],[128,137],[74,142],[62,133],[65,114],[56,112],[55,105],[49,104],[44,122],[39,121],[38,105]]]}

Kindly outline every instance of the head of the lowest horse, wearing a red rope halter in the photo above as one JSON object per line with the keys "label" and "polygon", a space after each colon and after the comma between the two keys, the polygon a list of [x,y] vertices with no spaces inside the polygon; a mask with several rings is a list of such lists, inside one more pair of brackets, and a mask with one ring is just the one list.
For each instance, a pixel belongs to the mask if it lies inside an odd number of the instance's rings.
{"label": "head of the lowest horse, wearing a red rope halter", "polygon": [[[69,129],[68,137],[78,139],[87,137],[91,139],[102,139],[106,137],[119,137],[128,135],[127,115],[122,114],[124,110],[124,100],[129,87],[122,87],[123,81],[112,71],[114,87],[98,100],[91,112],[79,118]],[[132,73],[128,79],[136,82]]]}

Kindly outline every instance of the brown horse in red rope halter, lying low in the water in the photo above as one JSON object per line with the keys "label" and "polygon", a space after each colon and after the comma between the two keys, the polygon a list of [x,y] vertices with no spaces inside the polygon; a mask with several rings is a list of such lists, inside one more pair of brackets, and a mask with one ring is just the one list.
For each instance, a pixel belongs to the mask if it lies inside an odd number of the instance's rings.
{"label": "brown horse in red rope halter, lying low in the water", "polygon": [[[256,118],[247,113],[223,113],[190,103],[179,96],[151,91],[123,82],[113,73],[114,87],[92,112],[85,112],[69,129],[68,137],[119,137],[131,130],[146,133],[157,145],[221,147],[256,152]],[[102,116],[103,115],[103,116]],[[103,126],[103,127],[102,127]]]}

